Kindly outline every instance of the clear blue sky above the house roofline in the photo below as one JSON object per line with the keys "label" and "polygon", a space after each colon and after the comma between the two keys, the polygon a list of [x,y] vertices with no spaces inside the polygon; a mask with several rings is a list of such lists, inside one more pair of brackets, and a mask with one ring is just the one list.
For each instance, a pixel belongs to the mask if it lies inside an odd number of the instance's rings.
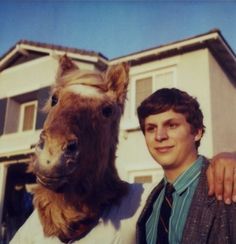
{"label": "clear blue sky above the house roofline", "polygon": [[0,56],[21,39],[112,59],[221,30],[236,52],[236,0],[2,0]]}

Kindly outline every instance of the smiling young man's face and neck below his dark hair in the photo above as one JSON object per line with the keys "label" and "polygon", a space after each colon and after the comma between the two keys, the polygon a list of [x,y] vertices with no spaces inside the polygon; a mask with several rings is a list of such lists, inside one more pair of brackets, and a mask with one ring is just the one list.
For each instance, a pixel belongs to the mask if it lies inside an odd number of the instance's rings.
{"label": "smiling young man's face and neck below his dark hair", "polygon": [[173,110],[145,119],[145,140],[149,152],[162,166],[166,177],[172,180],[196,160],[195,142],[201,135],[202,130],[193,134],[185,116]]}

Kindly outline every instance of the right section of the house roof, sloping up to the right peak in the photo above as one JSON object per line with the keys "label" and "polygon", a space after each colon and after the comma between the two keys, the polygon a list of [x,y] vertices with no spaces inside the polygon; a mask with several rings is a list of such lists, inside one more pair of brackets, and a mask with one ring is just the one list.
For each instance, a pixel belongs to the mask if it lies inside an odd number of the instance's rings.
{"label": "right section of the house roof, sloping up to the right peak", "polygon": [[203,48],[208,48],[227,74],[236,80],[236,55],[218,29],[177,42],[134,52],[112,59],[109,63],[129,62],[134,66]]}

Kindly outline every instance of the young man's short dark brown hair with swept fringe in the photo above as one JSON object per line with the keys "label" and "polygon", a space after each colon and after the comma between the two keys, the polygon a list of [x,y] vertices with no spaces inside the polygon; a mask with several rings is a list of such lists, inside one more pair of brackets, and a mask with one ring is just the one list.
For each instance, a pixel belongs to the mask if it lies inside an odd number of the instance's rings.
{"label": "young man's short dark brown hair with swept fringe", "polygon": [[[203,124],[203,114],[196,98],[191,97],[187,92],[176,88],[163,88],[157,90],[147,97],[138,107],[138,119],[143,133],[145,119],[149,115],[159,114],[173,110],[185,116],[186,121],[191,126],[191,132],[194,134],[197,130],[205,131]],[[196,142],[196,148],[200,146],[200,140]]]}

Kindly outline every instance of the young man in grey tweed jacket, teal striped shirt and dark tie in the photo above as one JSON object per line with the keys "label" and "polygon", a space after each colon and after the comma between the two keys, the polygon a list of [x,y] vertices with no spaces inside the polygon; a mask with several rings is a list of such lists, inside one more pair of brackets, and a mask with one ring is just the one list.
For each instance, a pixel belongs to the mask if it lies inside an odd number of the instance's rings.
{"label": "young man in grey tweed jacket, teal striped shirt and dark tie", "polygon": [[138,117],[149,152],[164,170],[138,220],[138,243],[236,243],[236,204],[208,195],[209,162],[198,155],[205,126],[196,99],[160,89],[141,103]]}

